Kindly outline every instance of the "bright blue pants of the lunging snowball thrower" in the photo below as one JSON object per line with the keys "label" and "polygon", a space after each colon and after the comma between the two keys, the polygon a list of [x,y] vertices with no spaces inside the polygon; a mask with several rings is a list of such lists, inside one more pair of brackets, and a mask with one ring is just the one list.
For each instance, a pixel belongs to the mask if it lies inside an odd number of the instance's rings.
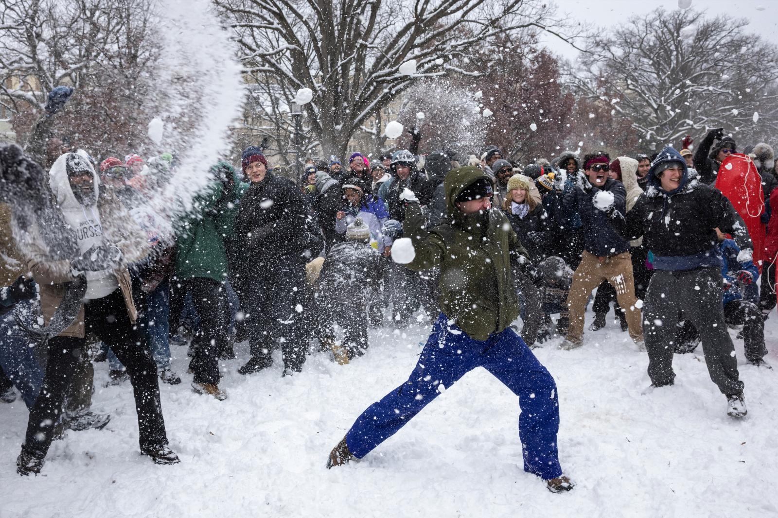
{"label": "bright blue pants of the lunging snowball thrower", "polygon": [[551,374],[510,327],[478,341],[448,325],[442,313],[408,381],[371,404],[346,433],[349,451],[361,459],[432,402],[440,384],[448,388],[475,367],[488,370],[519,397],[524,471],[544,480],[559,477],[559,402]]}

